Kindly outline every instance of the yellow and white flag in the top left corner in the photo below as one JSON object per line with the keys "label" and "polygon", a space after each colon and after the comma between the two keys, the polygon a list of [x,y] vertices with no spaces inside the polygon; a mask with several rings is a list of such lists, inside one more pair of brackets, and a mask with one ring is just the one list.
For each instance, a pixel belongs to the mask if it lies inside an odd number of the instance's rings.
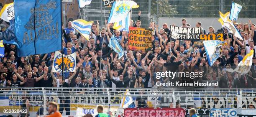
{"label": "yellow and white flag in the top left corner", "polygon": [[10,20],[14,19],[14,6],[13,3],[4,5],[0,12],[0,18],[5,20],[6,22],[10,22]]}

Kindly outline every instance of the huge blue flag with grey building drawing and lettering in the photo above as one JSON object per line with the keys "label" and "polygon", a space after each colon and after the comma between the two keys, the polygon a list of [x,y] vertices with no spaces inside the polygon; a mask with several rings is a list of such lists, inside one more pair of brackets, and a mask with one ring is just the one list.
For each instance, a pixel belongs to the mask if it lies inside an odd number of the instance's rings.
{"label": "huge blue flag with grey building drawing and lettering", "polygon": [[61,0],[14,0],[18,56],[61,50]]}

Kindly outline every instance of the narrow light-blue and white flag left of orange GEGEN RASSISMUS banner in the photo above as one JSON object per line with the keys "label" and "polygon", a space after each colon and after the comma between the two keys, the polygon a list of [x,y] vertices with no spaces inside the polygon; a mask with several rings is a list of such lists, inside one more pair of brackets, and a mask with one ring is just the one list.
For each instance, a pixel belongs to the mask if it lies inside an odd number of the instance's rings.
{"label": "narrow light-blue and white flag left of orange GEGEN RASSISMUS banner", "polygon": [[124,55],[124,51],[120,43],[118,42],[115,35],[110,38],[108,43],[108,47],[112,48],[116,53],[118,53],[118,59],[120,59]]}

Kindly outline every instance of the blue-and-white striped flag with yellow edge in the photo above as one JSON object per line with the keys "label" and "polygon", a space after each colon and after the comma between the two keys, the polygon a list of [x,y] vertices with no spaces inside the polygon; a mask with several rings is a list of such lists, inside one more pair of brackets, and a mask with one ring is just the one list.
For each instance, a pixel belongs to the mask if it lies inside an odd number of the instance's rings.
{"label": "blue-and-white striped flag with yellow edge", "polygon": [[76,29],[84,38],[89,40],[91,28],[92,28],[93,21],[86,21],[86,20],[74,20],[72,22],[72,27]]}

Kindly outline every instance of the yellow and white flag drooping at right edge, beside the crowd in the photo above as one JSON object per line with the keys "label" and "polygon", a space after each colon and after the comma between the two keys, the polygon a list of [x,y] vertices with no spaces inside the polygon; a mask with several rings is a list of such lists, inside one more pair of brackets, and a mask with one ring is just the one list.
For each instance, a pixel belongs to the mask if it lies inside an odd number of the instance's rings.
{"label": "yellow and white flag drooping at right edge, beside the crowd", "polygon": [[251,49],[250,53],[246,54],[246,56],[243,57],[243,60],[239,62],[236,69],[230,68],[230,69],[226,69],[226,71],[228,71],[228,72],[236,71],[241,74],[247,74],[251,69],[251,65],[252,65],[252,61],[253,61],[253,54],[254,54],[254,51],[253,51],[253,49]]}

